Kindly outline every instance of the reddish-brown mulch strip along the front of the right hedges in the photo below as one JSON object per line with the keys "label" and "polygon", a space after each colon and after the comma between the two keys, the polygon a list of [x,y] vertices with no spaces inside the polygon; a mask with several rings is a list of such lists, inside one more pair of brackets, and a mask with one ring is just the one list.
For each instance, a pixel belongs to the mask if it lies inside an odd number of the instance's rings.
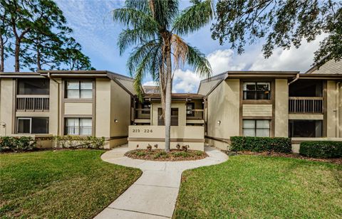
{"label": "reddish-brown mulch strip along the front of the right hedges", "polygon": [[321,161],[326,163],[332,164],[342,164],[342,158],[329,158],[329,159],[320,159],[320,158],[311,158],[306,156],[301,156],[300,154],[285,154],[279,152],[254,152],[254,151],[239,151],[239,152],[232,152],[232,151],[224,151],[224,153],[228,154],[229,156],[232,155],[239,155],[239,154],[247,154],[247,155],[257,155],[257,156],[281,156],[281,157],[290,157],[296,159],[304,159],[308,161]]}

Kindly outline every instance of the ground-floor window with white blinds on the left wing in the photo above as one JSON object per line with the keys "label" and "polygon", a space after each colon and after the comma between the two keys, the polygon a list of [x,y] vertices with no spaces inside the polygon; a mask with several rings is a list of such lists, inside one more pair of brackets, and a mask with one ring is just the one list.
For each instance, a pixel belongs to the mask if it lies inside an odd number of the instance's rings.
{"label": "ground-floor window with white blinds on the left wing", "polygon": [[66,118],[65,133],[67,135],[91,135],[91,118]]}

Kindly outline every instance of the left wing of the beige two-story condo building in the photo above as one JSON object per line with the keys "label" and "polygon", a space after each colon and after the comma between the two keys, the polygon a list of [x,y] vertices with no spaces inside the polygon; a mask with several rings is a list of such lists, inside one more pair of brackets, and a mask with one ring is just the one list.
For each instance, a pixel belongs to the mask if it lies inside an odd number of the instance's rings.
{"label": "left wing of the beige two-story condo building", "polygon": [[127,142],[133,79],[108,71],[0,73],[0,134]]}

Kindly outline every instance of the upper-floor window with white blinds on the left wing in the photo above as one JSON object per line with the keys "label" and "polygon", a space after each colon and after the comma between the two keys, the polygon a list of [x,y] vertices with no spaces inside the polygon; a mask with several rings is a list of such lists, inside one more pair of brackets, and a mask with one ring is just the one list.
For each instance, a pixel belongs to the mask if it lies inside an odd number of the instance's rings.
{"label": "upper-floor window with white blinds on the left wing", "polygon": [[93,82],[86,80],[70,80],[66,82],[66,98],[90,99],[93,98]]}

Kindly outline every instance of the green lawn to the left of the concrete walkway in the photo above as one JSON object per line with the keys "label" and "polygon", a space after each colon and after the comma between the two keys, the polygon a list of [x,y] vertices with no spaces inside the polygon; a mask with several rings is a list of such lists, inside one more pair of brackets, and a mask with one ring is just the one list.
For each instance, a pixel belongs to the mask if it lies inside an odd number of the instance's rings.
{"label": "green lawn to the left of the concrete walkway", "polygon": [[0,218],[93,218],[141,175],[102,153],[0,154]]}

